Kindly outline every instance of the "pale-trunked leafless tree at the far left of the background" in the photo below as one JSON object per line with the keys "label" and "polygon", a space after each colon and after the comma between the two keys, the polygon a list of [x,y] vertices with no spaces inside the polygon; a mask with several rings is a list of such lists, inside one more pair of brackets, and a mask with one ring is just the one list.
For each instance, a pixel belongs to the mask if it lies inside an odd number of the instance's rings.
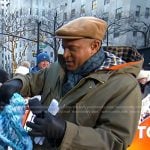
{"label": "pale-trunked leafless tree at the far left of the background", "polygon": [[[20,38],[27,39],[24,34],[26,33],[26,25],[22,24],[21,20],[18,19],[16,12],[11,15],[0,17],[0,28],[1,28],[1,46],[6,47],[11,52],[12,56],[12,71],[14,72],[17,67],[15,58],[16,46]],[[22,47],[23,51],[26,50],[28,44]],[[23,54],[23,53],[22,53]],[[22,57],[22,54],[20,56]]]}

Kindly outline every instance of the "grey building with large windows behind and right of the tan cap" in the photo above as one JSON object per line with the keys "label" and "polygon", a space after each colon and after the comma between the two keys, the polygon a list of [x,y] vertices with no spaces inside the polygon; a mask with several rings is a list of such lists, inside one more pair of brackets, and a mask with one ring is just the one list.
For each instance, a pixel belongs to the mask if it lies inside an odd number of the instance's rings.
{"label": "grey building with large windows behind and right of the tan cap", "polygon": [[57,10],[64,6],[65,21],[79,16],[96,16],[106,20],[108,37],[104,45],[137,48],[150,45],[150,0],[53,0],[52,3]]}

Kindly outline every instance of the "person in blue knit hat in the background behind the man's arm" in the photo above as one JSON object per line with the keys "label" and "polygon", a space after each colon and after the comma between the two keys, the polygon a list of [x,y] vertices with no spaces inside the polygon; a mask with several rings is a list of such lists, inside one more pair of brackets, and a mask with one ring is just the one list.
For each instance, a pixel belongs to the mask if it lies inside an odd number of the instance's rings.
{"label": "person in blue knit hat in the background behind the man's arm", "polygon": [[31,72],[37,72],[41,69],[48,68],[50,66],[50,57],[46,52],[42,52],[37,55],[37,65],[32,68]]}

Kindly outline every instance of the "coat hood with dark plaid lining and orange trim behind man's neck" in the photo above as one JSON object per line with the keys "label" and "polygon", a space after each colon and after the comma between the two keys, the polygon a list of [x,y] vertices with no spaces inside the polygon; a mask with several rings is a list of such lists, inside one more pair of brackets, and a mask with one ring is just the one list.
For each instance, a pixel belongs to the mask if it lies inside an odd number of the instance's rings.
{"label": "coat hood with dark plaid lining and orange trim behind man's neck", "polygon": [[130,73],[137,77],[142,68],[144,58],[135,48],[127,46],[109,46],[103,48],[105,51],[116,55],[124,61],[122,64],[116,63],[116,65],[109,66],[109,68],[105,68],[106,70]]}

